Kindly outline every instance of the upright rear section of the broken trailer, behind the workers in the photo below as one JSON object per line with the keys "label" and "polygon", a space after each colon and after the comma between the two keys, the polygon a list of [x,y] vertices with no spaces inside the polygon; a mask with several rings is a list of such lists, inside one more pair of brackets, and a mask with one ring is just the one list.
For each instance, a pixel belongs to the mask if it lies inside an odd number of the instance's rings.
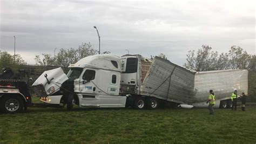
{"label": "upright rear section of the broken trailer, behind the workers", "polygon": [[207,100],[209,90],[218,100],[230,99],[234,90],[248,93],[248,70],[219,70],[197,72],[194,79],[194,98],[191,103]]}

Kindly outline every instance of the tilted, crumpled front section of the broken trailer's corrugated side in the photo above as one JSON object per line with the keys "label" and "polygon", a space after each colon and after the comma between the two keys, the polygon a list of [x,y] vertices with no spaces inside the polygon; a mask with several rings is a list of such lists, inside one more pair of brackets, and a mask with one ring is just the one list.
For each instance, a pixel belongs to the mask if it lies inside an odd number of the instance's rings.
{"label": "tilted, crumpled front section of the broken trailer's corrugated side", "polygon": [[155,57],[142,83],[140,94],[188,103],[194,93],[194,74],[169,60]]}

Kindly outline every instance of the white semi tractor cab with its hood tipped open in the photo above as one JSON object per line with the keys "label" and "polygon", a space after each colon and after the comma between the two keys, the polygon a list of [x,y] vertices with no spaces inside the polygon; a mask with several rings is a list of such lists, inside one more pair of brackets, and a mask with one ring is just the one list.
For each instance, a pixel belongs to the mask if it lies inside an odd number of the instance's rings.
{"label": "white semi tractor cab with its hood tipped open", "polygon": [[125,107],[126,96],[119,95],[121,81],[120,57],[100,54],[85,57],[71,64],[64,74],[62,68],[45,71],[33,83],[33,90],[46,104],[73,104],[79,107]]}

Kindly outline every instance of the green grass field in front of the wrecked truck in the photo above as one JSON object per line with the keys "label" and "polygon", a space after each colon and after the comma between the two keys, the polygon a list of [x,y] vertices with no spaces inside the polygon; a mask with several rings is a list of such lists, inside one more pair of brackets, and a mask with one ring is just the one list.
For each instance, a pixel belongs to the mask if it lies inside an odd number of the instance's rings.
{"label": "green grass field in front of the wrecked truck", "polygon": [[256,108],[29,108],[0,114],[0,143],[256,143]]}

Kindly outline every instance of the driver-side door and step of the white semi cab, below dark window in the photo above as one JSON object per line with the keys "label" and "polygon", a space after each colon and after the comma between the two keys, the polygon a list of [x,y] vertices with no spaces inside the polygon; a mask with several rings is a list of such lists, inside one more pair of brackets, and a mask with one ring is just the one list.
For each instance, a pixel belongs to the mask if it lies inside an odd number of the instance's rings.
{"label": "driver-side door and step of the white semi cab, below dark window", "polygon": [[99,98],[96,95],[97,72],[93,69],[86,69],[80,77],[80,93],[83,98],[80,105],[83,106],[99,106]]}

